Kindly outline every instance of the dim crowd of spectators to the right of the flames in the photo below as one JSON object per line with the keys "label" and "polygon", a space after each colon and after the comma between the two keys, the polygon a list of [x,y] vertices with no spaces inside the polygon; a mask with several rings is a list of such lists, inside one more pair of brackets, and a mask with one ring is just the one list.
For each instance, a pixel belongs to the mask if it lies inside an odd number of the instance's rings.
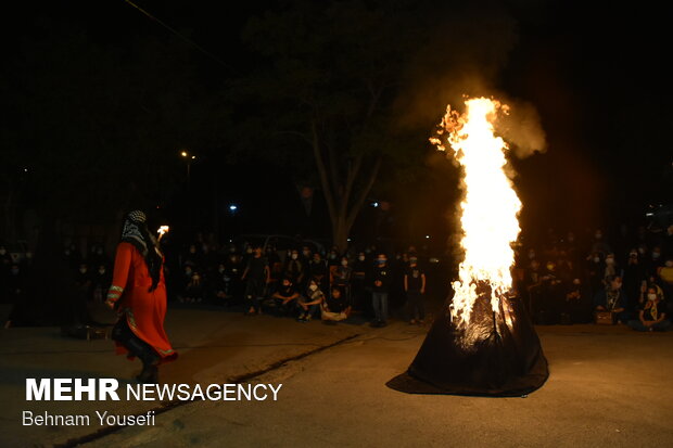
{"label": "dim crowd of spectators to the right of the flames", "polygon": [[547,231],[522,247],[515,270],[533,321],[623,323],[666,330],[673,311],[673,226],[660,232],[625,226],[609,235]]}

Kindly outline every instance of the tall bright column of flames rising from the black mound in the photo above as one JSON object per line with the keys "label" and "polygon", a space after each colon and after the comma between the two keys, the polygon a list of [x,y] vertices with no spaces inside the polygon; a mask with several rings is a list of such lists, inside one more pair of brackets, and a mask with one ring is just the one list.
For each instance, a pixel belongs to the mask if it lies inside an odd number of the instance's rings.
{"label": "tall bright column of flames rising from the black mound", "polygon": [[[459,280],[450,313],[459,327],[467,327],[474,300],[487,295],[494,312],[499,312],[500,298],[512,286],[510,268],[515,261],[511,243],[519,235],[517,215],[521,202],[507,177],[507,143],[494,133],[493,123],[508,107],[486,98],[469,99],[466,113],[446,110],[437,135],[448,133],[446,142],[464,168],[465,197],[460,204],[464,231],[461,247],[465,259],[459,266]],[[441,138],[431,142],[446,151]]]}

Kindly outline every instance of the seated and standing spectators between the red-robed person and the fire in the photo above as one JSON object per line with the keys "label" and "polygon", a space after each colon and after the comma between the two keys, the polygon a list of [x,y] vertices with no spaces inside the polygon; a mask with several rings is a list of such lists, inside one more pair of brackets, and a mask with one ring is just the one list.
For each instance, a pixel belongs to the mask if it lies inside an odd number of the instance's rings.
{"label": "seated and standing spectators between the red-robed person and the fire", "polygon": [[167,278],[180,303],[242,305],[246,316],[275,313],[300,322],[335,323],[356,312],[384,327],[391,293],[406,294],[409,322],[424,323],[426,273],[414,246],[389,260],[373,245],[323,253],[309,244],[279,251],[243,242],[218,251],[196,241],[174,268],[179,273]]}

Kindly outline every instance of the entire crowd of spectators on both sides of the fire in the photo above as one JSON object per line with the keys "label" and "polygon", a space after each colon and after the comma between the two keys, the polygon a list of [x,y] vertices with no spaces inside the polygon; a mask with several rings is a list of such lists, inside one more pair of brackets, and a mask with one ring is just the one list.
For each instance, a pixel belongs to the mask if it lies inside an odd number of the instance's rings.
{"label": "entire crowd of spectators on both sides of the fire", "polygon": [[[102,303],[114,261],[103,245],[92,245],[82,256],[69,244],[62,255],[84,300]],[[22,300],[30,265],[29,255],[15,260],[0,245],[2,302]],[[360,315],[383,327],[391,297],[395,305],[404,304],[409,323],[426,322],[427,267],[427,256],[414,246],[391,254],[374,245],[343,253],[312,244],[279,251],[247,242],[217,246],[198,235],[185,249],[166,249],[165,272],[169,300],[178,304],[217,304],[238,307],[246,316],[274,313],[300,322],[335,323]],[[538,242],[518,248],[512,272],[515,289],[536,324],[624,323],[639,331],[671,327],[673,226],[659,233],[645,227],[633,233],[622,227],[580,235],[548,230]]]}

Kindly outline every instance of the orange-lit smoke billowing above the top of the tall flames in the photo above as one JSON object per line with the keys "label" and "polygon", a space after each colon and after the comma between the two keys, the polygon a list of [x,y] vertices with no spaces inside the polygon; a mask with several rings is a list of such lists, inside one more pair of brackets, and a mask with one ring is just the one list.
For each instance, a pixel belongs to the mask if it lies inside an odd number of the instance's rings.
{"label": "orange-lit smoke billowing above the top of the tall flames", "polygon": [[512,154],[524,158],[544,152],[546,136],[534,105],[496,88],[519,41],[517,22],[497,5],[466,8],[452,10],[428,35],[396,102],[398,125],[424,129],[431,137],[447,104],[462,112],[467,97],[494,98],[509,106],[509,114],[499,114],[496,132]]}

